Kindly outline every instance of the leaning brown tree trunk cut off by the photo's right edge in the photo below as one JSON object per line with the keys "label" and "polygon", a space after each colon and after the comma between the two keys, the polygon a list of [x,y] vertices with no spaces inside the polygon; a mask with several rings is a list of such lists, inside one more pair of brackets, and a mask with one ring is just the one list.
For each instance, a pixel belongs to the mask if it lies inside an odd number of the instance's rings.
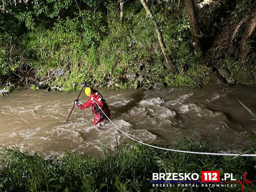
{"label": "leaning brown tree trunk cut off by the photo's right edge", "polygon": [[248,27],[244,31],[244,34],[240,42],[240,51],[241,51],[240,59],[242,62],[245,61],[248,55],[248,49],[247,49],[248,41],[253,37],[255,31],[256,31],[256,14],[253,13],[253,16],[249,20]]}

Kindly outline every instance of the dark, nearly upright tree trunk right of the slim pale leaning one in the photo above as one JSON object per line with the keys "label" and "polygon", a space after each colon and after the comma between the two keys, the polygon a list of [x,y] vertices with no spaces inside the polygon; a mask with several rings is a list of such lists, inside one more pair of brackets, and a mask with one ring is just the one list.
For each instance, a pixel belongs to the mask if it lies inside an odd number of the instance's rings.
{"label": "dark, nearly upright tree trunk right of the slim pale leaning one", "polygon": [[202,56],[202,46],[199,40],[199,30],[197,23],[197,15],[195,12],[194,0],[186,0],[187,12],[189,14],[189,25],[191,28],[192,45],[196,56]]}

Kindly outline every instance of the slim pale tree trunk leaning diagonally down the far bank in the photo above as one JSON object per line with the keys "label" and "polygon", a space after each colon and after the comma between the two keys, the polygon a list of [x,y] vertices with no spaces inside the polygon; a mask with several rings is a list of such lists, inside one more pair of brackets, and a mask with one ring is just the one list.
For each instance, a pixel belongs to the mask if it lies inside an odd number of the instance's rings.
{"label": "slim pale tree trunk leaning diagonally down the far bank", "polygon": [[164,40],[163,40],[162,32],[160,30],[160,26],[158,25],[157,20],[155,19],[152,11],[150,10],[147,1],[146,0],[140,0],[140,2],[143,5],[143,7],[145,8],[148,17],[150,17],[152,19],[152,22],[155,25],[155,31],[157,32],[157,39],[159,41],[161,50],[162,50],[163,55],[165,57],[166,64],[170,68],[170,70],[173,73],[175,73],[176,71],[175,71],[175,68],[174,68],[173,61],[172,61],[171,57],[168,56],[168,54],[166,52],[166,46],[165,46],[165,43],[164,43]]}

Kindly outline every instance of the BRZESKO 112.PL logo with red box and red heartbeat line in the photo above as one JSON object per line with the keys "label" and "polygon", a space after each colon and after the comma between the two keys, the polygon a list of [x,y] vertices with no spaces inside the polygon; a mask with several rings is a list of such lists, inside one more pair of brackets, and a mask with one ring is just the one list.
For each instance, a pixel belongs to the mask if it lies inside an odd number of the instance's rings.
{"label": "BRZESKO 112.PL logo with red box and red heartbeat line", "polygon": [[152,173],[152,187],[237,187],[240,185],[244,192],[244,186],[252,184],[246,179],[245,172],[241,180],[234,179],[233,173],[224,173],[221,177],[220,171],[201,171],[200,176],[198,173]]}

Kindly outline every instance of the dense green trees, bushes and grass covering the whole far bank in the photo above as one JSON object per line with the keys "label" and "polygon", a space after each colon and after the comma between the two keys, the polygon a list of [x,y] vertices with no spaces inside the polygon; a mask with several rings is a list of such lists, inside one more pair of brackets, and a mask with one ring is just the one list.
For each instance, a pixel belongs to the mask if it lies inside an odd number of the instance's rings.
{"label": "dense green trees, bushes and grass covering the whole far bank", "polygon": [[[194,38],[200,39],[203,56],[194,54],[186,1],[147,2],[177,73],[165,65],[154,25],[139,0],[123,2],[123,25],[116,0],[1,0],[0,84],[9,82],[13,89],[45,81],[66,90],[79,88],[82,81],[113,88],[132,87],[136,81],[148,87],[158,81],[181,86],[219,67],[231,76],[237,71],[254,74],[255,29],[250,26],[255,1],[194,2],[199,29]],[[140,78],[138,64],[144,61],[148,66]],[[55,70],[62,68],[64,73],[56,77]]]}

